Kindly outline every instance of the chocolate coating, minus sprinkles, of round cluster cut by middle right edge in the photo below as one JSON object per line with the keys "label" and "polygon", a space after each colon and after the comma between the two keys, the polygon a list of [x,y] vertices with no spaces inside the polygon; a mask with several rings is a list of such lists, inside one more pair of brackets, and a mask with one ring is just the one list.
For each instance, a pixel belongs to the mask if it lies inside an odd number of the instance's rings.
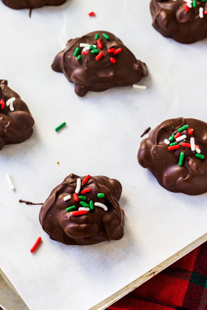
{"label": "chocolate coating, minus sprinkles, of round cluster cut by middle right edge", "polygon": [[[192,151],[191,147],[182,146],[183,140],[178,142],[180,147],[174,150],[169,150],[169,145],[164,143],[164,139],[169,139],[172,134],[178,133],[177,129],[184,125],[188,125],[188,129],[193,129],[191,135],[188,130],[180,133],[187,136],[184,142],[189,144],[190,138],[193,137],[204,159],[197,158],[195,156],[197,152]],[[175,142],[175,139],[172,142]],[[179,166],[181,152],[184,152],[184,160],[182,166]],[[207,192],[207,124],[205,122],[182,117],[162,122],[151,131],[148,138],[141,142],[137,158],[139,164],[150,170],[158,183],[170,192],[181,192],[187,195],[200,195]]]}

